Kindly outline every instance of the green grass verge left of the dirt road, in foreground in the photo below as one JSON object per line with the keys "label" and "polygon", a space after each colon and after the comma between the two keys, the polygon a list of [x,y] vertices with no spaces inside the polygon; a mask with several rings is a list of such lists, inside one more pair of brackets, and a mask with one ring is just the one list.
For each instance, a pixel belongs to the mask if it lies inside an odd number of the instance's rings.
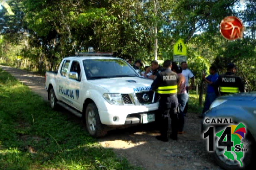
{"label": "green grass verge left of the dirt road, in foreground", "polygon": [[0,69],[0,169],[141,169]]}

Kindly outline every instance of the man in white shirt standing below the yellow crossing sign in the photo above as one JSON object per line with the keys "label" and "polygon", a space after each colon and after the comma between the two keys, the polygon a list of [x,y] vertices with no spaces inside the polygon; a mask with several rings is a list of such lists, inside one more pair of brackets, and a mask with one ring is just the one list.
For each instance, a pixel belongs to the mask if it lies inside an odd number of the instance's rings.
{"label": "man in white shirt standing below the yellow crossing sign", "polygon": [[[186,61],[181,62],[181,68],[182,68],[182,73],[184,77],[186,78],[186,90],[187,93],[189,94],[189,90],[192,89],[195,81],[195,76],[193,75],[192,71],[187,68],[188,64]],[[189,86],[189,79],[191,79],[191,84]],[[188,103],[186,103],[185,109],[184,109],[184,114],[187,114],[187,109],[188,109]]]}

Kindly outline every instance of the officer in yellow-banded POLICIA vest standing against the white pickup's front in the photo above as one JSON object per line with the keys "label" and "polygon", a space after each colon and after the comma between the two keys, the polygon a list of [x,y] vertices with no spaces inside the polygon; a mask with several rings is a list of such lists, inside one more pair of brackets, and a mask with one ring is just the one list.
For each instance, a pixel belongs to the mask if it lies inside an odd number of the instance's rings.
{"label": "officer in yellow-banded POLICIA vest standing against the white pickup's front", "polygon": [[159,114],[161,114],[160,133],[156,139],[167,142],[167,132],[169,129],[169,119],[171,118],[172,134],[171,138],[177,140],[178,134],[178,113],[177,107],[179,105],[177,99],[177,84],[179,77],[177,73],[171,71],[172,63],[170,60],[166,60],[163,63],[164,71],[156,74],[156,79],[153,81],[151,88],[157,90],[160,95],[159,101]]}

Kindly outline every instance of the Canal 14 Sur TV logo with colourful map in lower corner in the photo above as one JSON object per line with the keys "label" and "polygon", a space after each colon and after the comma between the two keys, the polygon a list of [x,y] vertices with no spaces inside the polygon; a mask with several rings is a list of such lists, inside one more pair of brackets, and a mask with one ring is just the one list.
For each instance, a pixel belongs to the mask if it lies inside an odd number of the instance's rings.
{"label": "Canal 14 Sur TV logo with colourful map in lower corner", "polygon": [[249,149],[249,143],[245,139],[246,126],[243,123],[234,124],[232,119],[226,118],[205,118],[204,123],[212,125],[203,133],[203,139],[208,139],[207,150],[212,152],[217,149],[220,151],[218,154],[222,154],[226,159],[238,161],[243,167],[243,157]]}

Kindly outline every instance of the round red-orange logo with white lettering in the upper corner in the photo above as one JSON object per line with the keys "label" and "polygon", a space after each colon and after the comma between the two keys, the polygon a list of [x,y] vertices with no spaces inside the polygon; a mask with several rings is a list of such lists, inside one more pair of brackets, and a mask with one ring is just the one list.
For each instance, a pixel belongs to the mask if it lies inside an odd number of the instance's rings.
{"label": "round red-orange logo with white lettering in the upper corner", "polygon": [[243,38],[244,25],[234,16],[225,17],[220,23],[220,33],[228,40]]}

